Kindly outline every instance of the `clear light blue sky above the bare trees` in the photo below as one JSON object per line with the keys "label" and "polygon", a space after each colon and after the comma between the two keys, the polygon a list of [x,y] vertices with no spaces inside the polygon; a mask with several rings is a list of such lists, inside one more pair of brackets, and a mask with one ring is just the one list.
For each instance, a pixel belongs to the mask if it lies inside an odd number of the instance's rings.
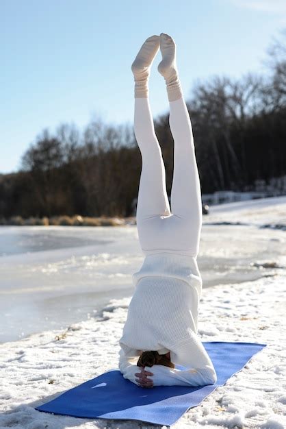
{"label": "clear light blue sky above the bare trees", "polygon": [[[213,75],[265,73],[286,27],[285,0],[0,0],[0,173],[17,171],[44,128],[133,123],[131,63],[148,36],[170,34],[185,98]],[[168,110],[153,62],[153,117]]]}

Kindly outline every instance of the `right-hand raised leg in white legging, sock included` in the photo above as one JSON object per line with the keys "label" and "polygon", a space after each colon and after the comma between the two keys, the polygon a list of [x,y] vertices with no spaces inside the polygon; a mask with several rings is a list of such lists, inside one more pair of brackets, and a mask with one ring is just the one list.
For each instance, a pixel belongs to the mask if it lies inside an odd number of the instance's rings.
{"label": "right-hand raised leg in white legging, sock included", "polygon": [[174,138],[171,209],[172,214],[183,221],[187,247],[194,249],[194,254],[197,254],[203,212],[192,124],[179,81],[174,40],[161,33],[160,48],[163,60],[158,65],[158,70],[166,80],[170,103],[169,123]]}

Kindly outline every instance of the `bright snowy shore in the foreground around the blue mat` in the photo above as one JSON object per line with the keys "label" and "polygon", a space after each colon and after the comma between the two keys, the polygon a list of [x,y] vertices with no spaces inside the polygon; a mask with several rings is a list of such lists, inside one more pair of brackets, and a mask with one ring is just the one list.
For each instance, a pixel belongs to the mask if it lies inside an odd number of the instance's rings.
{"label": "bright snowy shore in the foreground around the blue mat", "polygon": [[[172,427],[285,428],[285,292],[285,269],[255,282],[203,290],[203,341],[248,341],[267,347]],[[34,410],[81,382],[118,369],[118,339],[130,299],[112,299],[101,317],[66,330],[0,345],[0,427],[154,428],[140,421],[77,419]]]}

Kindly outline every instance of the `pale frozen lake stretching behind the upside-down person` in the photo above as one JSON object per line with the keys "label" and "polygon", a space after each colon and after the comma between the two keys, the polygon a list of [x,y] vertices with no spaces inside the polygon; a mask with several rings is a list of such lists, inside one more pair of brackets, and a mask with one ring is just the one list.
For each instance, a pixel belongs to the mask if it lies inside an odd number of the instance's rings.
{"label": "pale frozen lake stretching behind the upside-down person", "polygon": [[[204,217],[198,255],[203,287],[274,275],[256,262],[285,263],[286,232],[258,225],[265,221],[259,213],[281,219],[286,204],[269,210],[257,201],[255,211],[247,203],[213,208]],[[209,224],[226,220],[248,224]],[[134,225],[1,226],[0,255],[0,343],[66,328],[99,314],[109,299],[131,296],[131,275],[143,261]]]}

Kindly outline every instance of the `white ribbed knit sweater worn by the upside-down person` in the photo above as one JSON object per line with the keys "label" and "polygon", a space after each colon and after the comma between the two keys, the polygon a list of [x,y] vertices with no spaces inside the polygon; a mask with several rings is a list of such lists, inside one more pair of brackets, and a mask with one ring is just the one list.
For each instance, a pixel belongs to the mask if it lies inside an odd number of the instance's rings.
{"label": "white ribbed knit sweater worn by the upside-down person", "polygon": [[[133,274],[135,292],[119,340],[119,369],[135,384],[140,352],[170,351],[178,367],[145,367],[156,385],[200,386],[216,382],[216,371],[197,336],[202,279],[196,258],[161,252],[148,254]],[[135,358],[135,359],[134,359]]]}

